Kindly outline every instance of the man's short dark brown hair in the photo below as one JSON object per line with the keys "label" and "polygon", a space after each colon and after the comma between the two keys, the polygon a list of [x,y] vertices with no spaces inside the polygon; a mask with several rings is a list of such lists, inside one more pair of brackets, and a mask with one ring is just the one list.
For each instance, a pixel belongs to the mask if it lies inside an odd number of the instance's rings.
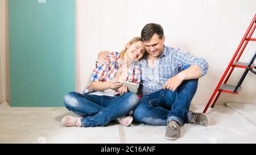
{"label": "man's short dark brown hair", "polygon": [[144,26],[141,31],[142,40],[150,40],[155,33],[158,35],[159,39],[162,39],[164,35],[163,27],[155,23],[146,24],[146,26]]}

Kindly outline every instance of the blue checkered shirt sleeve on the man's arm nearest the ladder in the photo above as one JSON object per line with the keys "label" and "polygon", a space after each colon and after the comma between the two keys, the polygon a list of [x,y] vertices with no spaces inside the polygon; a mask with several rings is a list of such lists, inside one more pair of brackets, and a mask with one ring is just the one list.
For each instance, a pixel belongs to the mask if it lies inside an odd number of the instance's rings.
{"label": "blue checkered shirt sleeve on the man's arm nearest the ladder", "polygon": [[174,60],[180,67],[185,65],[200,66],[202,73],[201,77],[207,73],[209,68],[208,63],[204,58],[193,56],[190,53],[181,51],[180,49],[174,51]]}

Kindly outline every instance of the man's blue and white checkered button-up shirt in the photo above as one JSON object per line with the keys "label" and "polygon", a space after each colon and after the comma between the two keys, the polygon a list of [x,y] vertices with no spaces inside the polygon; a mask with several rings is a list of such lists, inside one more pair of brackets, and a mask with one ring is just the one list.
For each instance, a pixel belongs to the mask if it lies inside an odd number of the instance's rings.
{"label": "man's blue and white checkered button-up shirt", "polygon": [[178,74],[183,66],[200,66],[202,77],[208,70],[208,63],[203,58],[167,46],[164,46],[164,51],[156,61],[155,68],[147,65],[146,58],[143,58],[139,62],[142,70],[141,86],[143,95],[163,89],[168,79]]}

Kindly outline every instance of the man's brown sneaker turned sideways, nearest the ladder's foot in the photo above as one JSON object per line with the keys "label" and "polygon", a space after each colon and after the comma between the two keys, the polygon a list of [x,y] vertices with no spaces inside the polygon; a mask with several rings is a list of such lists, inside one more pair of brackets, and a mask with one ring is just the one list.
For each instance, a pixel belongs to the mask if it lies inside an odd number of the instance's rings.
{"label": "man's brown sneaker turned sideways, nearest the ladder's foot", "polygon": [[200,113],[200,112],[195,112],[192,110],[191,111],[192,114],[192,119],[189,123],[191,124],[195,124],[195,125],[207,125],[209,118],[207,115],[205,115],[204,113]]}

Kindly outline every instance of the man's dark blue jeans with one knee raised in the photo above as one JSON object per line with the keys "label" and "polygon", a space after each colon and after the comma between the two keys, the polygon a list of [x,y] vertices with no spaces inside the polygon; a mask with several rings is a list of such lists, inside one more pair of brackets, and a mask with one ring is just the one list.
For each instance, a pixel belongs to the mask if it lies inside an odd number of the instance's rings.
{"label": "man's dark blue jeans with one knee raised", "polygon": [[[185,66],[183,70],[188,67]],[[197,81],[185,80],[175,91],[162,89],[143,95],[133,111],[135,120],[151,125],[166,125],[169,120],[176,120],[180,125],[189,123],[192,116],[188,111],[196,93]]]}

